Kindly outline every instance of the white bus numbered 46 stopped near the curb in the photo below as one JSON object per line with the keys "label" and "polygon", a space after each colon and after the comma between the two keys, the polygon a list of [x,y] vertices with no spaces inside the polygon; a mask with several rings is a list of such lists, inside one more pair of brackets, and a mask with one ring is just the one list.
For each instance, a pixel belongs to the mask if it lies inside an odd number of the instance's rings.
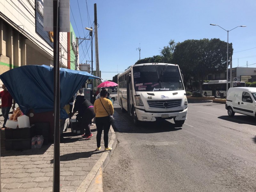
{"label": "white bus numbered 46 stopped near the curb", "polygon": [[117,76],[117,84],[121,109],[134,124],[173,118],[181,126],[187,119],[188,100],[178,65],[132,65]]}

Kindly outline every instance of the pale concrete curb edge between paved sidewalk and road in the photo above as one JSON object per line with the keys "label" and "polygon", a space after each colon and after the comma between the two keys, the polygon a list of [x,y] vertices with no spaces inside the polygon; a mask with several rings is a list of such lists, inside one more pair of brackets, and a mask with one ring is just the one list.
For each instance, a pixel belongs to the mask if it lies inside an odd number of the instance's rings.
{"label": "pale concrete curb edge between paved sidewalk and road", "polygon": [[86,178],[82,181],[79,187],[76,189],[76,192],[103,192],[102,187],[102,172],[108,165],[110,161],[110,156],[116,148],[116,133],[110,126],[110,131],[112,133],[110,141],[108,143],[109,147],[112,147],[111,151],[102,151],[100,159],[93,166],[92,170],[88,173]]}

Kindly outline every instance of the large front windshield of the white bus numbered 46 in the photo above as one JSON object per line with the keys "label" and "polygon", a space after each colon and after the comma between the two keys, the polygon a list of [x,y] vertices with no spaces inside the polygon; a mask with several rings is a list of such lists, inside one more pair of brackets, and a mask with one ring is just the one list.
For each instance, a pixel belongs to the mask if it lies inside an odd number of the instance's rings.
{"label": "large front windshield of the white bus numbered 46", "polygon": [[135,91],[184,90],[178,66],[133,66],[133,79]]}

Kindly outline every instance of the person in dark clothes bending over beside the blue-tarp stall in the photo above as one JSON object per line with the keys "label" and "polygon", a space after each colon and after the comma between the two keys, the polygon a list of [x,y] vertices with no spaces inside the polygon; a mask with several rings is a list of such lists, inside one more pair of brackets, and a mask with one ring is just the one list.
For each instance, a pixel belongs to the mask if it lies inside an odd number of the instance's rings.
{"label": "person in dark clothes bending over beside the blue-tarp stall", "polygon": [[76,113],[76,111],[78,111],[78,114],[76,115],[78,122],[81,122],[81,126],[85,126],[85,133],[82,135],[82,137],[84,137],[85,140],[88,140],[93,136],[90,127],[90,123],[95,116],[93,105],[90,101],[84,99],[84,96],[77,95],[72,116]]}

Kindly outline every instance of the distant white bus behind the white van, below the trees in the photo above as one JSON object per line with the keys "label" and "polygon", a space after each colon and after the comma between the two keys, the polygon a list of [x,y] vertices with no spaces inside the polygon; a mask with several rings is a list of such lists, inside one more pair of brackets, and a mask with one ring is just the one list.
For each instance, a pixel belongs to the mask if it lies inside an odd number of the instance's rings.
{"label": "distant white bus behind the white van, below the trees", "polygon": [[[233,82],[233,87],[245,87],[245,82]],[[230,88],[230,82],[228,82],[228,89]],[[219,97],[220,93],[224,93],[224,97],[227,97],[227,80],[214,80],[202,85],[202,95]]]}

